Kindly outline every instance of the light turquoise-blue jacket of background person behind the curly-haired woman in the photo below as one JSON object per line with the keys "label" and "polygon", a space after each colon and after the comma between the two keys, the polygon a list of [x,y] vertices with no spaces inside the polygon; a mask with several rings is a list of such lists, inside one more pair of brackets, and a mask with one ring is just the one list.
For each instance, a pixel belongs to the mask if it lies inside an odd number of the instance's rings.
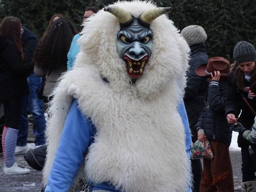
{"label": "light turquoise-blue jacket of background person behind the curly-haired woman", "polygon": [[76,34],[71,42],[69,52],[67,53],[67,70],[72,69],[73,64],[76,60],[76,55],[79,52],[80,46],[77,44],[80,34]]}

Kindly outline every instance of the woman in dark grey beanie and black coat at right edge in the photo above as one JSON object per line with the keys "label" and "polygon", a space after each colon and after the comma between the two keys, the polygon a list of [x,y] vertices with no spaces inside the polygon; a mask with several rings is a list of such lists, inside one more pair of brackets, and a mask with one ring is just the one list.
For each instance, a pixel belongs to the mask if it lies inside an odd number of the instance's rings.
{"label": "woman in dark grey beanie and black coat at right edge", "polygon": [[[256,110],[255,94],[250,91],[251,84],[256,81],[256,50],[252,44],[241,41],[236,44],[233,56],[236,67],[233,67],[229,78],[226,101],[227,120],[229,123],[239,121],[249,130],[254,123],[254,115],[242,98],[246,99],[254,111]],[[237,142],[242,154],[242,191],[256,191],[256,169],[248,152],[248,147],[255,148],[255,145],[244,139],[242,134],[239,134]]]}

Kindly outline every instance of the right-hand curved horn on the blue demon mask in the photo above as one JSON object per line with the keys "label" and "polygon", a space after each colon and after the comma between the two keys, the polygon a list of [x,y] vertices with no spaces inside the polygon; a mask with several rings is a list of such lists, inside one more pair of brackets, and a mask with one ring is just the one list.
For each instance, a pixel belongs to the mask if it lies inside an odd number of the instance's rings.
{"label": "right-hand curved horn on the blue demon mask", "polygon": [[168,8],[155,8],[155,9],[150,9],[148,11],[146,11],[145,13],[143,13],[142,15],[140,15],[140,20],[146,24],[151,24],[152,21],[154,21],[157,17],[169,13],[172,11],[171,7]]}

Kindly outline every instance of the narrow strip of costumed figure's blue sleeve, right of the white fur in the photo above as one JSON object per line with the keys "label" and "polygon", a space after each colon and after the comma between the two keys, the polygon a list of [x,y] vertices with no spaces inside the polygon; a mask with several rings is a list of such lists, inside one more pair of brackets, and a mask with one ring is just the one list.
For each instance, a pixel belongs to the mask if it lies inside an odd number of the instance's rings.
{"label": "narrow strip of costumed figure's blue sleeve, right of the white fur", "polygon": [[[184,128],[185,128],[186,152],[187,152],[187,158],[189,158],[189,160],[190,160],[192,140],[191,140],[191,133],[190,133],[190,128],[189,128],[189,120],[187,118],[187,112],[186,112],[183,100],[181,100],[180,104],[178,105],[178,112],[181,116],[181,120],[182,120]],[[187,191],[192,192],[192,190],[190,188]]]}

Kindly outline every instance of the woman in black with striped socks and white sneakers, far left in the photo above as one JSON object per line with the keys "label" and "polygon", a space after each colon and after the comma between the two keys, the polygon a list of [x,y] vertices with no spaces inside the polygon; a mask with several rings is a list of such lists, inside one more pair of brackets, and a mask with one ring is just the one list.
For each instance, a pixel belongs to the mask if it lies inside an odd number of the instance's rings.
{"label": "woman in black with striped socks and white sneakers, far left", "polygon": [[2,134],[4,174],[26,174],[29,169],[15,163],[15,146],[21,121],[22,98],[29,94],[27,75],[32,62],[25,62],[21,44],[21,22],[5,17],[0,23],[0,103],[3,103],[6,126]]}

